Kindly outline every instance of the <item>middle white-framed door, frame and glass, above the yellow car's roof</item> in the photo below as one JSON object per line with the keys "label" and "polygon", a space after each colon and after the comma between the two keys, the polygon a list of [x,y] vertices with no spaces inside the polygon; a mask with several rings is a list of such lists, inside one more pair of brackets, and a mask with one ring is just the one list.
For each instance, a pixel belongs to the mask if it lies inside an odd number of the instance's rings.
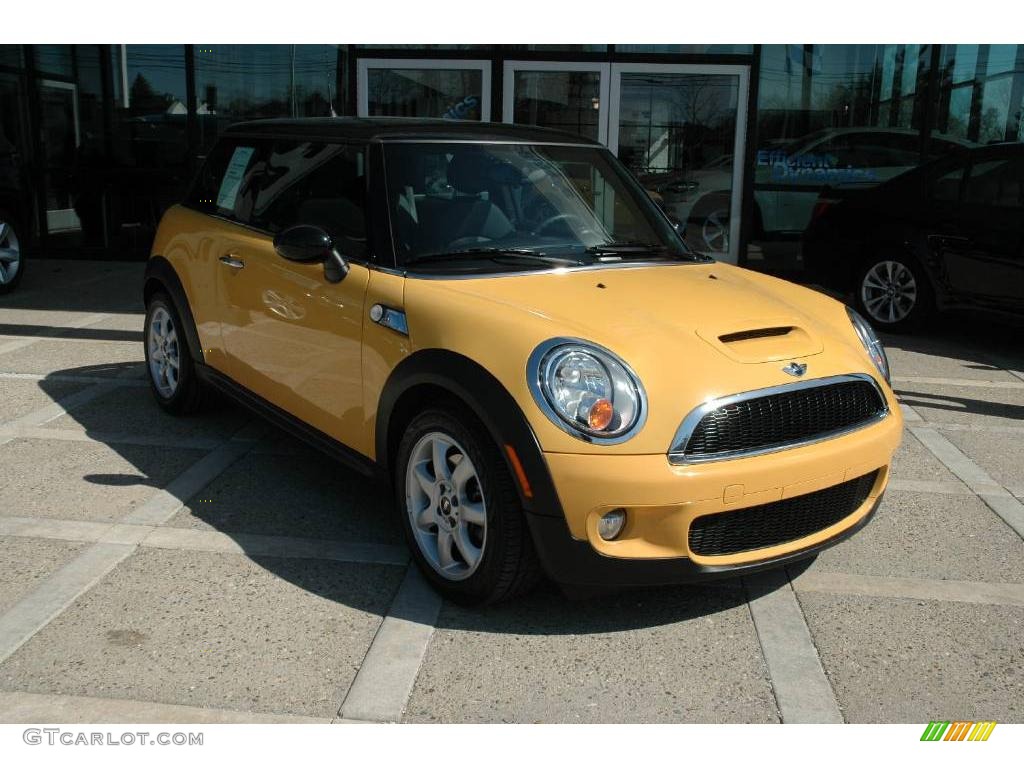
{"label": "middle white-framed door, frame and glass, above the yellow car's roof", "polygon": [[609,70],[606,63],[506,61],[502,120],[606,143]]}

